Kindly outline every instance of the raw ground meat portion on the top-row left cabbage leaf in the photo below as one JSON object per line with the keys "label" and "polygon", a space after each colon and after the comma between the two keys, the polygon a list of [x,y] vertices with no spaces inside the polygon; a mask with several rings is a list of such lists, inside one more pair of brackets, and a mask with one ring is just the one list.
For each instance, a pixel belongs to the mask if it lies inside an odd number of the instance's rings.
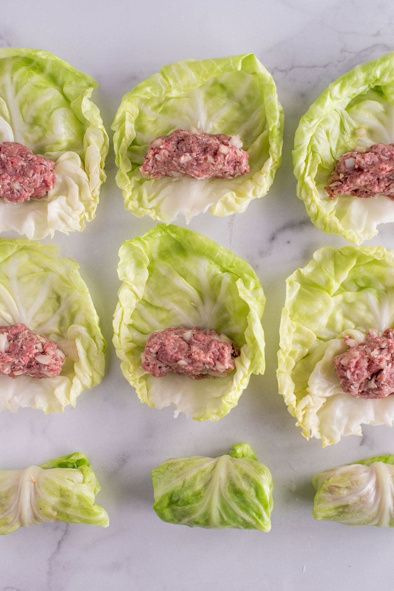
{"label": "raw ground meat portion on the top-row left cabbage leaf", "polygon": [[55,185],[55,163],[35,156],[17,142],[0,144],[0,197],[10,203],[23,203],[30,197],[41,199]]}

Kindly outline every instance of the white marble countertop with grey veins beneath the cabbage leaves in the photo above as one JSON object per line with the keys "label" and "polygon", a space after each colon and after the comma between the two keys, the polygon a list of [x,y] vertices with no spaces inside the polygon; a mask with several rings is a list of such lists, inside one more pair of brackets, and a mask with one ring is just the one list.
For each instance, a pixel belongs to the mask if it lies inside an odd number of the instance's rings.
{"label": "white marble countertop with grey veins beneath the cabbage leaves", "polygon": [[[320,441],[305,440],[295,427],[275,378],[285,278],[320,246],[345,244],[314,228],[296,197],[295,129],[331,81],[393,49],[392,31],[390,0],[2,1],[0,46],[48,50],[93,76],[100,85],[93,99],[108,132],[124,93],[160,66],[249,51],[274,76],[285,132],[283,163],[266,197],[241,215],[200,215],[189,225],[246,259],[267,296],[265,375],[252,376],[238,406],[218,423],[184,415],[174,420],[173,408],[140,404],[120,372],[111,345],[117,251],[155,222],[124,212],[112,148],[96,219],[82,233],[55,235],[61,255],[80,264],[96,304],[109,342],[106,375],[64,414],[2,413],[0,467],[86,453],[110,527],[44,524],[3,537],[0,591],[392,589],[393,531],[314,521],[311,478],[326,467],[393,452],[394,431],[365,427],[363,437],[322,450]],[[392,235],[393,225],[381,226],[367,243],[394,248]],[[177,527],[156,517],[153,467],[168,457],[217,456],[241,441],[251,444],[274,478],[269,534]]]}

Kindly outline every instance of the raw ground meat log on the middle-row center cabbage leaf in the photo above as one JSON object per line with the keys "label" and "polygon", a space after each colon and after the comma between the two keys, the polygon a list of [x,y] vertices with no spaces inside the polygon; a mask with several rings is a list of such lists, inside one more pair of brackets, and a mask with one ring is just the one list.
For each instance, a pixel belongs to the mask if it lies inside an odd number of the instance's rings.
{"label": "raw ground meat log on the middle-row center cabbage leaf", "polygon": [[215,330],[170,327],[147,338],[142,369],[160,378],[174,372],[192,379],[222,378],[239,357],[234,341]]}

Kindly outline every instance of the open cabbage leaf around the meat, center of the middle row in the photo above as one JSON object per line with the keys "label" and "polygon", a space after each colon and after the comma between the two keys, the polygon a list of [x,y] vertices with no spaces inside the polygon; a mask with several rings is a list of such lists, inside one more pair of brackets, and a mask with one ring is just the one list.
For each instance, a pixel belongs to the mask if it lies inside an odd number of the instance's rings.
{"label": "open cabbage leaf around the meat, center of the middle row", "polygon": [[[114,313],[113,343],[122,372],[142,402],[173,404],[196,420],[216,421],[237,405],[251,374],[264,373],[265,297],[247,262],[191,230],[158,225],[124,242],[118,275],[123,285]],[[141,353],[152,332],[170,326],[214,329],[235,341],[235,371],[218,379],[146,374]]]}

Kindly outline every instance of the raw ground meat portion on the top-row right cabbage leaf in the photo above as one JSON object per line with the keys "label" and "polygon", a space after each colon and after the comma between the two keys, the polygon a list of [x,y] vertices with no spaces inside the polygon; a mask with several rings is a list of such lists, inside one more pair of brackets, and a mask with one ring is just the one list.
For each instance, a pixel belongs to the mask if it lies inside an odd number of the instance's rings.
{"label": "raw ground meat portion on the top-row right cabbage leaf", "polygon": [[347,152],[335,165],[330,186],[324,189],[331,198],[387,195],[394,199],[394,144],[374,144],[365,153]]}

